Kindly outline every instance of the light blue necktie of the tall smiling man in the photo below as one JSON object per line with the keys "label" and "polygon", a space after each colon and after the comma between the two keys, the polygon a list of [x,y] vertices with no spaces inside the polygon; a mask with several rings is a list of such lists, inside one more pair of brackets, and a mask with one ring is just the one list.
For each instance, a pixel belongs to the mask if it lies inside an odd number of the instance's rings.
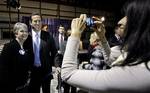
{"label": "light blue necktie of the tall smiling man", "polygon": [[40,42],[39,42],[39,35],[35,35],[35,42],[34,42],[34,66],[40,67],[41,62],[40,62],[40,53],[39,53],[39,48],[40,47]]}

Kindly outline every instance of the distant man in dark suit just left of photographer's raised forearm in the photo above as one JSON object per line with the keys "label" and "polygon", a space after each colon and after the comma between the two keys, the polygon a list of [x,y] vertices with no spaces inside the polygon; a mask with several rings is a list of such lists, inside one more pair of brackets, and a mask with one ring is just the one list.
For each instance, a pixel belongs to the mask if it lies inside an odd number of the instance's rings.
{"label": "distant man in dark suit just left of photographer's raised forearm", "polygon": [[55,44],[57,48],[57,54],[55,57],[55,67],[56,67],[56,74],[58,78],[58,85],[56,88],[58,89],[58,92],[61,92],[62,81],[60,76],[61,74],[60,69],[61,69],[63,54],[66,46],[65,28],[63,25],[59,25],[58,32],[56,33],[56,36],[54,38],[55,38]]}

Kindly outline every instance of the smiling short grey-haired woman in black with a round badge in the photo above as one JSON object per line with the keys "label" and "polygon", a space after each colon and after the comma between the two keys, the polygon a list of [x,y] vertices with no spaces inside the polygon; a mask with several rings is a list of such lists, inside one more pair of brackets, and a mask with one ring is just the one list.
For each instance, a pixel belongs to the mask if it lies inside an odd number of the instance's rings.
{"label": "smiling short grey-haired woman in black with a round badge", "polygon": [[[3,81],[0,84],[4,93],[28,93],[28,79],[31,67],[31,52],[25,47],[28,37],[28,28],[24,23],[14,25],[15,38],[4,45],[1,53],[4,73],[0,75]],[[2,64],[3,63],[3,64]],[[3,91],[4,90],[4,91]]]}

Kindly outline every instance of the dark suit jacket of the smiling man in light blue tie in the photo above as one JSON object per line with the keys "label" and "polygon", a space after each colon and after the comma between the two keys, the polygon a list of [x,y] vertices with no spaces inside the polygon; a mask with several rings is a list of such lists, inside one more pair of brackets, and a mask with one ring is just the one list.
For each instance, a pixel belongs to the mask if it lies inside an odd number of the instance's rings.
{"label": "dark suit jacket of the smiling man in light blue tie", "polygon": [[[41,31],[41,43],[40,43],[40,59],[41,69],[43,72],[43,78],[50,75],[52,72],[52,66],[54,65],[54,57],[56,55],[56,46],[53,37],[45,31]],[[32,44],[32,34],[30,33],[25,44],[30,51],[32,51],[32,66],[34,64],[34,52]]]}

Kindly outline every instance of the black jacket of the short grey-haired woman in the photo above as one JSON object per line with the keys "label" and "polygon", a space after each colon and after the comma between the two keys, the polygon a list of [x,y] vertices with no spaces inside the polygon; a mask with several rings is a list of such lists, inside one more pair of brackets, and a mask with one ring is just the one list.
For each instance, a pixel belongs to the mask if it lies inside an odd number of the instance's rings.
{"label": "black jacket of the short grey-haired woman", "polygon": [[[5,92],[11,91],[13,93],[17,87],[23,86],[27,83],[31,67],[31,53],[23,46],[25,53],[20,53],[21,47],[14,39],[10,43],[4,45],[1,53],[1,66],[3,67],[3,89]],[[7,92],[6,92],[7,93]]]}

